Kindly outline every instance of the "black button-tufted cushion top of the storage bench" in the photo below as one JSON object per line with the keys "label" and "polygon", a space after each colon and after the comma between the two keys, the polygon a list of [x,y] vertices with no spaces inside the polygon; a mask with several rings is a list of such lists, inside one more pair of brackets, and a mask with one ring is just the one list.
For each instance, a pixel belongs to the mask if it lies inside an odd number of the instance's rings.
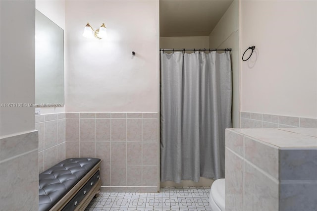
{"label": "black button-tufted cushion top of the storage bench", "polygon": [[98,158],[69,158],[40,173],[39,210],[51,209],[99,161]]}

